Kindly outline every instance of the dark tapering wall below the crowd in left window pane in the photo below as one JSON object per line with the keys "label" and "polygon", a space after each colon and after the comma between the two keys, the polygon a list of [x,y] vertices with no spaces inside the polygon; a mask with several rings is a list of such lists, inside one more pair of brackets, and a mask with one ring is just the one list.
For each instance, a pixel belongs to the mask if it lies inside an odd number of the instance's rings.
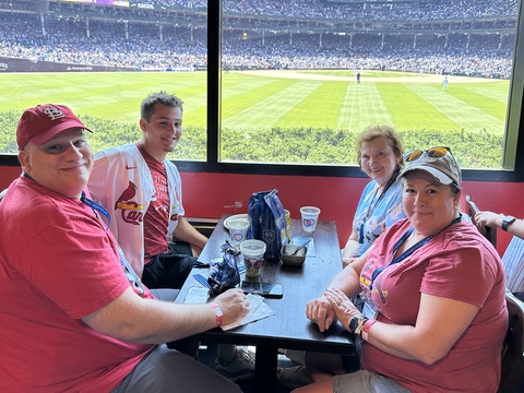
{"label": "dark tapering wall below the crowd in left window pane", "polygon": [[0,72],[96,72],[96,71],[135,71],[128,67],[107,67],[59,63],[51,61],[15,59],[0,56]]}

